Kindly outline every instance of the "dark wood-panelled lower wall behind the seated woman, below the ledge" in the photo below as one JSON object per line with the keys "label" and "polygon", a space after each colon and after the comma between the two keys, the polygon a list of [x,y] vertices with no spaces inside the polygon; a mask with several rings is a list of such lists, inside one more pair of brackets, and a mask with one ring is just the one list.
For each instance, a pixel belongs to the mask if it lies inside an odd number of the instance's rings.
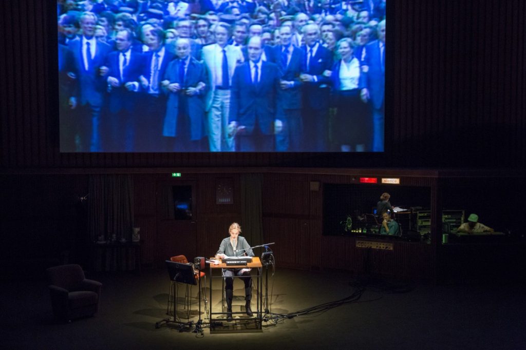
{"label": "dark wood-panelled lower wall behind the seated woman, below the ledge", "polygon": [[[234,203],[216,204],[216,181],[226,176],[234,184]],[[88,238],[87,203],[79,200],[87,193],[88,175],[12,175],[0,180],[0,190],[5,194],[0,215],[3,232],[0,262],[4,268],[27,261],[28,265],[37,262],[44,269],[62,262],[66,251],[69,262],[90,269],[92,243]],[[194,180],[194,220],[184,223],[186,226],[174,220],[162,221],[159,184]],[[265,242],[250,243],[274,242],[271,248],[278,267],[432,279],[434,253],[430,244],[396,242],[395,250],[386,252],[356,248],[355,238],[322,235],[323,188],[311,190],[311,182],[352,181],[352,177],[343,175],[265,173],[262,184]],[[424,187],[430,185],[429,180],[422,183]],[[226,237],[231,222],[243,225],[240,173],[184,173],[183,178],[175,180],[168,173],[134,174],[134,191],[135,226],[140,227],[141,260],[145,267],[161,267],[169,256],[181,253],[189,259],[211,256]],[[188,246],[194,246],[194,251],[189,252]],[[257,255],[260,253],[256,251]]]}

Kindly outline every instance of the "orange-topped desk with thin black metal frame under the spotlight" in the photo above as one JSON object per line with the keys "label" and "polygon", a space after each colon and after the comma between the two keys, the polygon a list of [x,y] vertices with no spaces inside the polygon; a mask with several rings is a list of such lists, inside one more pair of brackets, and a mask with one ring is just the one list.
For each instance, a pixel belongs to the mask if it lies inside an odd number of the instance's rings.
{"label": "orange-topped desk with thin black metal frame under the spotlight", "polygon": [[[214,312],[213,310],[213,303],[212,303],[212,281],[213,279],[217,279],[217,278],[224,278],[223,275],[222,275],[222,269],[247,269],[247,268],[250,268],[252,269],[250,271],[250,274],[251,274],[251,277],[254,277],[252,276],[252,271],[256,271],[257,274],[256,274],[256,290],[257,290],[257,293],[256,293],[256,316],[255,317],[244,317],[242,318],[242,320],[257,320],[258,321],[258,329],[260,330],[261,329],[261,320],[262,320],[262,312],[261,312],[261,308],[262,308],[262,293],[263,293],[263,288],[262,288],[262,280],[261,280],[261,270],[262,270],[262,265],[261,265],[261,260],[259,259],[258,256],[254,256],[252,258],[252,262],[251,263],[248,263],[246,266],[245,265],[228,265],[221,262],[220,264],[218,265],[214,265],[214,264],[210,264],[210,298],[209,298],[209,305],[210,305],[210,330],[213,330],[214,328],[214,322],[215,321],[226,321],[225,318],[215,318],[214,315],[224,315],[226,314],[226,312],[223,312],[223,310],[221,310],[221,312]],[[221,272],[221,275],[220,276],[214,276],[214,271],[220,271]],[[236,276],[238,277],[238,276]],[[236,278],[234,277],[234,278]],[[246,278],[246,277],[239,277],[239,278]],[[222,285],[222,284],[221,284]],[[222,295],[223,295],[223,291],[221,290],[221,298],[222,298]],[[221,303],[222,304],[222,303]],[[243,312],[232,312],[232,314],[244,314]]]}

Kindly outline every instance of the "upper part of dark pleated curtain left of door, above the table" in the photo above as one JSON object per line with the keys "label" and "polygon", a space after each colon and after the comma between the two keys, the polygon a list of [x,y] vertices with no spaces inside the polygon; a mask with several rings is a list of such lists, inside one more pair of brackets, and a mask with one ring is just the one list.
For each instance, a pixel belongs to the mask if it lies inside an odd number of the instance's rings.
{"label": "upper part of dark pleated curtain left of door, above the table", "polygon": [[131,241],[134,227],[133,178],[131,175],[89,177],[89,233],[96,241]]}

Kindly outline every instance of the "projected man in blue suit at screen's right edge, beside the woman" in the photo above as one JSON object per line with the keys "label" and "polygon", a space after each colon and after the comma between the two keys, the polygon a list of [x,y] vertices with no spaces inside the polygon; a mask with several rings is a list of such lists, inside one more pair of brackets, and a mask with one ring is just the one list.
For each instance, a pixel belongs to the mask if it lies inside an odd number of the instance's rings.
{"label": "projected man in blue suit at screen's right edge, beside the woman", "polygon": [[365,46],[362,71],[366,73],[367,88],[362,89],[363,101],[370,100],[373,122],[372,151],[383,152],[383,128],[385,115],[385,63],[386,21],[378,23],[378,40]]}

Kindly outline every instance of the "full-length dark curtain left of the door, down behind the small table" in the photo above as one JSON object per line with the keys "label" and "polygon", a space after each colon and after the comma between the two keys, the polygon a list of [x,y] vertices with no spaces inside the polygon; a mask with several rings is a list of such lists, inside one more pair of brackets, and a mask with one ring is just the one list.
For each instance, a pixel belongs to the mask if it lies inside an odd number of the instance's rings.
{"label": "full-length dark curtain left of the door, down behind the small table", "polygon": [[95,244],[95,270],[131,270],[135,266],[136,250],[129,243],[134,227],[133,197],[131,175],[89,177],[90,240],[95,242],[100,236],[106,242]]}

